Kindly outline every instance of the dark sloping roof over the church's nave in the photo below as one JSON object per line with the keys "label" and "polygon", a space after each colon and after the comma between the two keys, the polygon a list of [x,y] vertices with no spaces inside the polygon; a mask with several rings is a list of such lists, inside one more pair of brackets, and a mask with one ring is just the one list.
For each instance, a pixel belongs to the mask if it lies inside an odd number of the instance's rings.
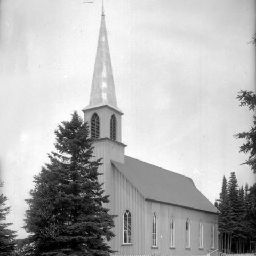
{"label": "dark sloping roof over the church's nave", "polygon": [[146,200],[217,213],[218,209],[196,188],[193,180],[138,159],[125,156],[125,164],[111,161]]}

